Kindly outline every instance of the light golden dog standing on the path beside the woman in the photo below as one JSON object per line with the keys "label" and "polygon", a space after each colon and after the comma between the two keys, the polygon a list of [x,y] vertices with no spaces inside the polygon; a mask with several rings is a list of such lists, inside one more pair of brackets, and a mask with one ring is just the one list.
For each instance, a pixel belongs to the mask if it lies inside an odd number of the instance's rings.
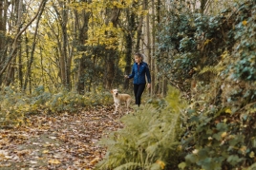
{"label": "light golden dog standing on the path beside the woman", "polygon": [[128,113],[129,112],[129,106],[130,106],[131,101],[132,101],[132,97],[129,94],[119,94],[117,89],[111,90],[111,93],[113,94],[114,104],[116,106],[116,110],[115,110],[114,114],[117,113],[118,107],[121,103],[125,103],[126,108],[127,108],[127,113]]}

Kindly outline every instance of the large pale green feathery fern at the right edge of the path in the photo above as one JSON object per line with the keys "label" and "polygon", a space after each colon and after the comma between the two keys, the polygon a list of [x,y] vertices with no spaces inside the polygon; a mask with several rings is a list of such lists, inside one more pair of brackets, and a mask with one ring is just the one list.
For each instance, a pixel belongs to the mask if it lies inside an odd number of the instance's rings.
{"label": "large pale green feathery fern at the right edge of the path", "polygon": [[[165,108],[157,110],[149,104],[141,106],[134,115],[121,118],[125,124],[123,129],[99,142],[107,146],[108,151],[104,160],[96,165],[98,169],[162,169],[164,162],[172,164],[171,158],[178,160],[175,159],[179,155],[176,132],[186,104],[176,88],[168,88]],[[158,161],[162,162],[161,166],[156,164]]]}

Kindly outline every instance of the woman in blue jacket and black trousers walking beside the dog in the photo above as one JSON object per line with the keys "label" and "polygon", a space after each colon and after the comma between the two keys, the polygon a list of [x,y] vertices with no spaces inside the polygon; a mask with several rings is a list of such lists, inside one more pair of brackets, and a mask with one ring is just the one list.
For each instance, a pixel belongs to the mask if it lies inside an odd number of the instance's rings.
{"label": "woman in blue jacket and black trousers walking beside the dog", "polygon": [[149,72],[148,65],[143,62],[143,55],[141,53],[136,53],[135,55],[135,63],[133,65],[132,74],[125,75],[125,78],[132,79],[134,78],[134,93],[135,93],[135,100],[136,104],[140,104],[141,95],[146,86],[146,79],[147,77],[147,88],[151,86],[151,76]]}

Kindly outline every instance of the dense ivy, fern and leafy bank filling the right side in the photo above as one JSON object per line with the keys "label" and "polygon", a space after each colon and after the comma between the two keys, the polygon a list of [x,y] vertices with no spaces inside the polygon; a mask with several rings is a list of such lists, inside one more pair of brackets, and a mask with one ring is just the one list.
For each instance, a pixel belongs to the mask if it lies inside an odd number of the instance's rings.
{"label": "dense ivy, fern and leafy bank filling the right side", "polygon": [[255,11],[250,1],[217,16],[171,11],[157,60],[190,96],[169,86],[165,106],[124,117],[102,142],[109,151],[99,169],[256,167]]}

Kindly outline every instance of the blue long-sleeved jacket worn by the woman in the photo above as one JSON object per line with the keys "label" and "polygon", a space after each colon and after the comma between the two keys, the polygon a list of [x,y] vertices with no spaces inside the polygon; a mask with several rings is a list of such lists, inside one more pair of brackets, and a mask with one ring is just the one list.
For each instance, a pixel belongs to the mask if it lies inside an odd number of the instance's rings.
{"label": "blue long-sleeved jacket worn by the woman", "polygon": [[149,72],[149,67],[145,62],[141,62],[139,64],[139,71],[138,71],[138,64],[135,63],[133,66],[132,74],[129,75],[129,79],[134,78],[134,84],[146,84],[146,78],[147,76],[147,82],[151,83],[151,76]]}

